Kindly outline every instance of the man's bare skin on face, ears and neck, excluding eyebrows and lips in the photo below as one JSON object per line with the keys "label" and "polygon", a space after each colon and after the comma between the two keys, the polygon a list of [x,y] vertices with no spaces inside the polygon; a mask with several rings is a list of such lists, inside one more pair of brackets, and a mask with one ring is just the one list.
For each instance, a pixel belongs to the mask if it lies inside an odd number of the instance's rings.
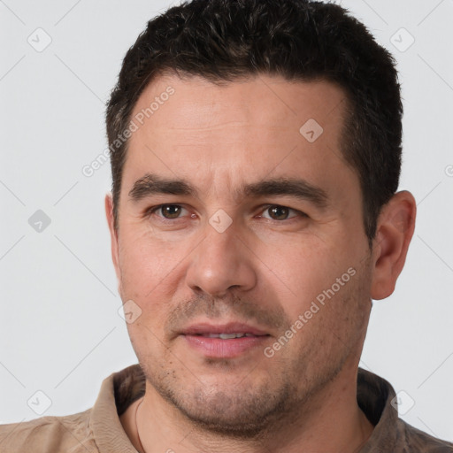
{"label": "man's bare skin on face, ears and neck, excluding eyebrows and lips", "polygon": [[[143,91],[134,114],[169,86],[173,96],[130,138],[119,231],[105,198],[119,293],[142,310],[127,328],[147,378],[137,411],[143,450],[357,451],[372,433],[356,400],[371,298],[395,288],[413,197],[400,192],[384,207],[370,250],[357,174],[341,153],[346,99],[331,83],[260,75],[217,86],[167,75]],[[308,119],[323,127],[314,142],[299,132]],[[185,180],[197,195],[134,201],[129,192],[146,173]],[[241,193],[275,178],[321,188],[325,205]],[[150,212],[161,204],[183,209],[165,219]],[[275,205],[289,211],[275,219]],[[222,233],[210,224],[219,210],[231,220]],[[328,288],[334,296],[266,357]],[[179,334],[204,321],[239,321],[269,336],[237,357],[205,357]],[[141,451],[138,403],[121,422]]]}

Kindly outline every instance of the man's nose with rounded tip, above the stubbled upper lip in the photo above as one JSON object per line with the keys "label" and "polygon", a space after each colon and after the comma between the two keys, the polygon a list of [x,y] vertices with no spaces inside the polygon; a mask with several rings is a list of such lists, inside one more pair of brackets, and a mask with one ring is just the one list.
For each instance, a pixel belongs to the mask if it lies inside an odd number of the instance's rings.
{"label": "man's nose with rounded tip, above the stubbled upper lip", "polygon": [[219,233],[211,225],[190,255],[186,280],[194,292],[226,296],[228,291],[248,291],[257,284],[254,255],[234,226]]}

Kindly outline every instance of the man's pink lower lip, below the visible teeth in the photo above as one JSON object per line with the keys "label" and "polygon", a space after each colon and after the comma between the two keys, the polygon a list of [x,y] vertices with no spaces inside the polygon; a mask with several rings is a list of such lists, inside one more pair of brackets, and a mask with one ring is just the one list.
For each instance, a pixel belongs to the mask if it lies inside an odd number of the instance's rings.
{"label": "man's pink lower lip, below the visible teeth", "polygon": [[259,346],[264,348],[269,335],[242,336],[241,338],[210,338],[203,335],[183,335],[188,344],[205,357],[233,358]]}

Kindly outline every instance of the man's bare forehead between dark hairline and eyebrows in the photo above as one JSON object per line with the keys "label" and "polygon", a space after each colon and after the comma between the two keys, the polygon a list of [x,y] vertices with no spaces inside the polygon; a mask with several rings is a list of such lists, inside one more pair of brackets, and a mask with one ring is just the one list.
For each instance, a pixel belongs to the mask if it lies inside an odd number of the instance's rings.
{"label": "man's bare forehead between dark hairline and eyebrows", "polygon": [[329,173],[354,179],[340,151],[345,104],[326,81],[259,75],[219,86],[162,76],[134,106],[125,177],[132,184],[150,170],[196,179],[202,191],[271,173],[317,185]]}

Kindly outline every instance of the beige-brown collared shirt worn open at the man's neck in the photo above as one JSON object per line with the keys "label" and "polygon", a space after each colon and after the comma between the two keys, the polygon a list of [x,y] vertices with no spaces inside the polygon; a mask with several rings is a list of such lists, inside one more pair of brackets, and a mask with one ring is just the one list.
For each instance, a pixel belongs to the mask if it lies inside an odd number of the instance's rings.
{"label": "beige-brown collared shirt worn open at the man's neck", "polygon": [[[112,373],[95,405],[64,417],[42,417],[0,426],[1,453],[136,453],[119,416],[142,397],[139,365]],[[391,402],[395,390],[387,380],[358,369],[357,402],[374,426],[358,453],[452,453],[453,443],[435,439],[398,418]]]}

